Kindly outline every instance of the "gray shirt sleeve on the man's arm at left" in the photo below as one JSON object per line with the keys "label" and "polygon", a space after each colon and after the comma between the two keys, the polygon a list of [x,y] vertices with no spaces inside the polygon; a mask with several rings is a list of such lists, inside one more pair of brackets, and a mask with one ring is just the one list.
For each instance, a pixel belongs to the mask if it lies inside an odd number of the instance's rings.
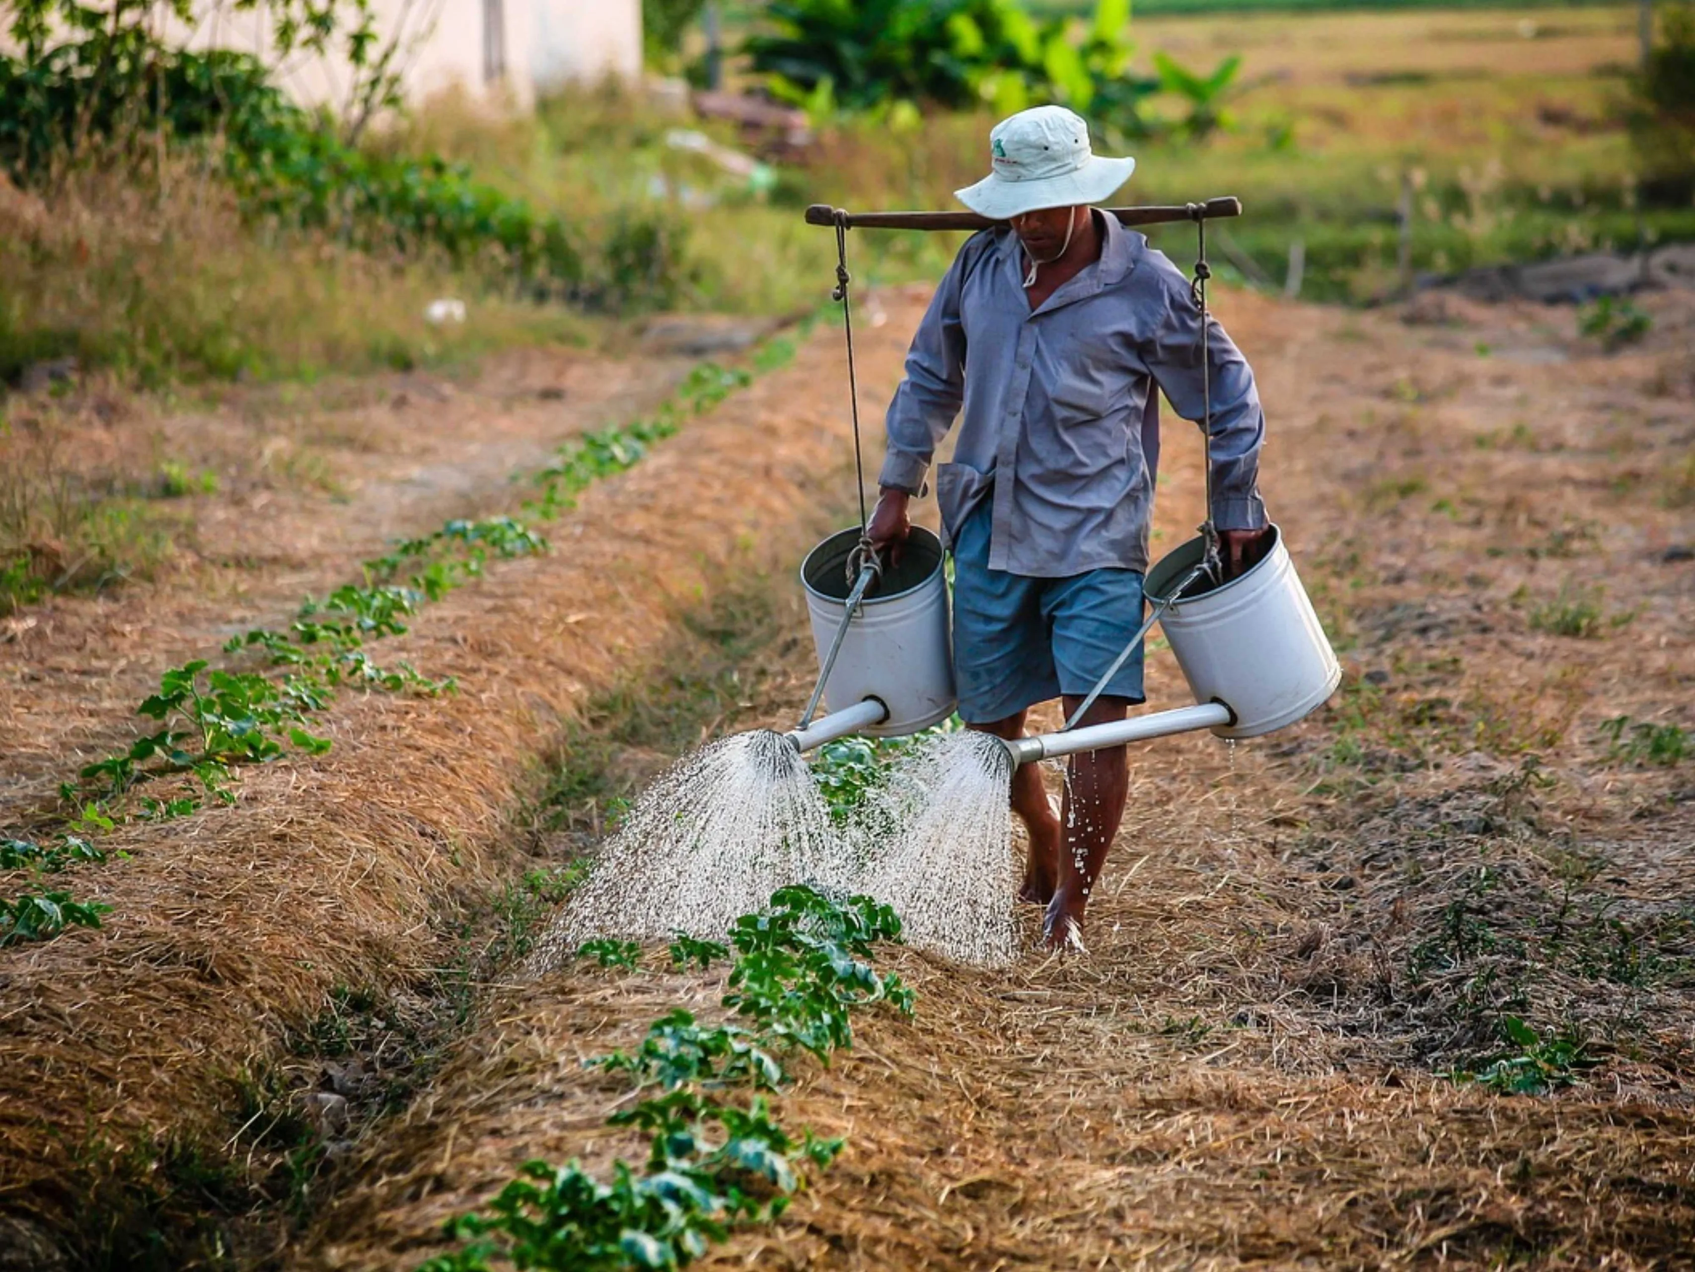
{"label": "gray shirt sleeve on the man's arm at left", "polygon": [[936,446],[948,436],[964,400],[964,327],[959,293],[970,259],[968,243],[949,266],[907,351],[907,375],[888,404],[888,453],[878,485],[917,494]]}

